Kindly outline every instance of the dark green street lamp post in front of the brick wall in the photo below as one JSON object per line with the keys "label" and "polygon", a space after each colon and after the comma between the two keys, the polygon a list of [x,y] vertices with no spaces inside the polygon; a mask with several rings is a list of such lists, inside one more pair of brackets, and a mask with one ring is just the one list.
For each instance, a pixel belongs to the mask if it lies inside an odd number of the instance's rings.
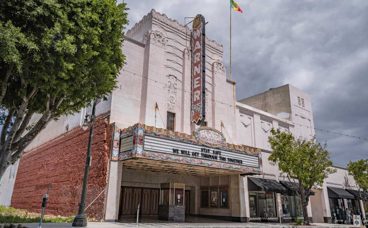
{"label": "dark green street lamp post in front of the brick wall", "polygon": [[[86,156],[86,164],[84,168],[84,178],[83,178],[83,188],[81,195],[81,202],[79,203],[78,214],[75,215],[72,226],[73,227],[86,227],[87,226],[87,217],[84,214],[86,207],[86,191],[87,191],[87,181],[88,181],[88,170],[91,165],[91,149],[92,149],[92,136],[93,136],[93,124],[95,123],[95,111],[96,111],[96,102],[97,99],[93,102],[92,115],[89,117],[91,119],[91,128],[89,129],[89,139],[88,139],[88,148],[87,148],[87,156]],[[82,125],[83,129],[88,129],[88,115],[84,120]]]}

